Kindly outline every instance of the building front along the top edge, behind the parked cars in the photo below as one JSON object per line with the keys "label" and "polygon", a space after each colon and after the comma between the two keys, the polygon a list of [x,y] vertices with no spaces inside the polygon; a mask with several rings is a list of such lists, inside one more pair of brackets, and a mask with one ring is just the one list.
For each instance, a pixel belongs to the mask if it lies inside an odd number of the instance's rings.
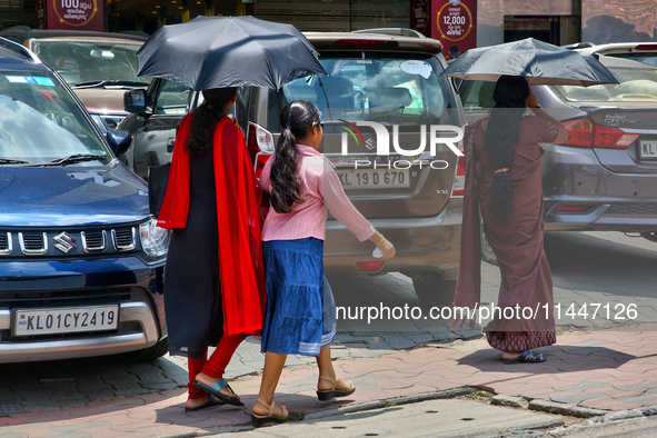
{"label": "building front along the top edge, behind the parked cars", "polygon": [[[41,0],[0,0],[0,28],[37,27]],[[43,0],[57,2],[62,0]],[[417,0],[89,0],[102,2],[104,30],[155,32],[199,14],[253,14],[301,30],[409,27]],[[426,0],[436,4],[450,0]],[[458,1],[458,0],[451,0]],[[430,19],[430,18],[429,18]],[[477,44],[534,37],[555,44],[657,41],[655,0],[477,0]]]}

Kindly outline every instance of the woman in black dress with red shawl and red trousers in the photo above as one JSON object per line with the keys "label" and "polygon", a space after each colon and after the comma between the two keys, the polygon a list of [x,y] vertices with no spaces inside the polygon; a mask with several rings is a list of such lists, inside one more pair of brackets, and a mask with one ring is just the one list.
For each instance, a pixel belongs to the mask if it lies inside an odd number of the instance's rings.
{"label": "woman in black dress with red shawl and red trousers", "polygon": [[[189,358],[186,410],[243,406],[223,371],[246,335],[262,327],[261,191],[245,138],[226,115],[235,88],[202,91],[180,123],[160,227],[173,230],[165,305],[169,352]],[[207,358],[208,347],[217,349]]]}

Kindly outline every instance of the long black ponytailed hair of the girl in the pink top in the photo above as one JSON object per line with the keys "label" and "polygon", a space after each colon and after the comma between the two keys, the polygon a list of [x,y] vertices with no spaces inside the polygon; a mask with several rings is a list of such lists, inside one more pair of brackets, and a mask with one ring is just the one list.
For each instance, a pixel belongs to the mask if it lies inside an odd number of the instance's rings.
{"label": "long black ponytailed hair of the girl in the pink top", "polygon": [[295,202],[303,202],[300,196],[301,181],[297,176],[297,141],[320,122],[317,107],[303,100],[288,103],[280,113],[280,125],[285,130],[278,138],[269,173],[271,207],[276,212],[289,213]]}

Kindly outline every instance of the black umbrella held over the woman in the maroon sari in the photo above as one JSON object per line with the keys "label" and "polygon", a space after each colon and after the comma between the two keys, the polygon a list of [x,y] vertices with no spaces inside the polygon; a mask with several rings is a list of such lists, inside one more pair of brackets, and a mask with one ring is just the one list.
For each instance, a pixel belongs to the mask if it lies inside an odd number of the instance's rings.
{"label": "black umbrella held over the woman in the maroon sari", "polygon": [[487,82],[495,82],[502,74],[526,77],[530,86],[618,83],[614,74],[594,57],[534,38],[470,49],[441,73]]}

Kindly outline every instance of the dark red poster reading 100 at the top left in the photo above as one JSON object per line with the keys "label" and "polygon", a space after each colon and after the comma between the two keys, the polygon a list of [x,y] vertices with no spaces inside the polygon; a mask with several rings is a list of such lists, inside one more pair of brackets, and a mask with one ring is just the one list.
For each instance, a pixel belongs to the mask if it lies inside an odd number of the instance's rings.
{"label": "dark red poster reading 100 at the top left", "polygon": [[[46,17],[39,2],[47,2]],[[39,0],[40,29],[96,30],[102,32],[102,0]],[[42,4],[42,3],[41,3]]]}

